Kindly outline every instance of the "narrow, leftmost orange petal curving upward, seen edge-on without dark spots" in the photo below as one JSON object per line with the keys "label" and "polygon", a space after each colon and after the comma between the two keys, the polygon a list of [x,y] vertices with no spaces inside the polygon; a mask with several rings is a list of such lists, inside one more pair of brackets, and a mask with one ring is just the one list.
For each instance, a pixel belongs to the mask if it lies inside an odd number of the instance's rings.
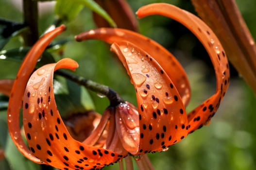
{"label": "narrow, leftmost orange petal curving upward, seen edge-on without dark spots", "polygon": [[62,33],[66,27],[64,25],[56,28],[55,30],[43,35],[32,47],[32,49],[26,55],[24,61],[22,62],[14,85],[12,87],[9,105],[7,110],[7,119],[8,119],[8,129],[10,135],[18,148],[18,150],[28,159],[41,163],[41,161],[33,156],[27,145],[24,143],[19,129],[19,111],[22,104],[22,97],[24,95],[25,87],[29,80],[29,76],[34,70],[37,60],[41,56],[42,52],[45,50],[47,45],[51,40],[56,37],[58,34]]}

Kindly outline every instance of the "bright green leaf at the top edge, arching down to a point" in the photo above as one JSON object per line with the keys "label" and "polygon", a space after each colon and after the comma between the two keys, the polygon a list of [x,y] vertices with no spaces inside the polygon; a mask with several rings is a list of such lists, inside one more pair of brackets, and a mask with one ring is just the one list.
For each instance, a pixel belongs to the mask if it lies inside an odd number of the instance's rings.
{"label": "bright green leaf at the top edge, arching down to a point", "polygon": [[57,0],[55,13],[61,19],[69,21],[78,15],[83,6],[87,6],[92,11],[102,16],[112,27],[117,27],[115,21],[93,0]]}

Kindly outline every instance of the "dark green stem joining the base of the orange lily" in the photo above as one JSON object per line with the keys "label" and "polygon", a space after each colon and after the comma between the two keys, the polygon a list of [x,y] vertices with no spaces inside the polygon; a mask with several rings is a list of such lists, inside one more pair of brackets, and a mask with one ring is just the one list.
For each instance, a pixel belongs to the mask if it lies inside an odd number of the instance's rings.
{"label": "dark green stem joining the base of the orange lily", "polygon": [[121,102],[124,102],[117,92],[115,92],[113,89],[111,89],[106,85],[101,85],[94,81],[87,80],[81,76],[78,76],[76,74],[73,74],[65,70],[57,70],[55,71],[55,73],[63,77],[66,77],[69,80],[74,81],[79,85],[84,85],[87,89],[90,89],[92,91],[105,95],[110,102],[110,106],[117,106]]}

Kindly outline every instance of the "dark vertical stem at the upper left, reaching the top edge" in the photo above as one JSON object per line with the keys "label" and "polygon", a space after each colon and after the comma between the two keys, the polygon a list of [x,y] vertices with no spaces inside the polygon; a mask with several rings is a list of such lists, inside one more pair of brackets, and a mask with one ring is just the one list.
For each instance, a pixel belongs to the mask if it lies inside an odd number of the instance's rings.
{"label": "dark vertical stem at the upper left, reaching the top edge", "polygon": [[38,6],[37,0],[23,0],[24,23],[29,30],[23,34],[25,46],[33,46],[38,40]]}

